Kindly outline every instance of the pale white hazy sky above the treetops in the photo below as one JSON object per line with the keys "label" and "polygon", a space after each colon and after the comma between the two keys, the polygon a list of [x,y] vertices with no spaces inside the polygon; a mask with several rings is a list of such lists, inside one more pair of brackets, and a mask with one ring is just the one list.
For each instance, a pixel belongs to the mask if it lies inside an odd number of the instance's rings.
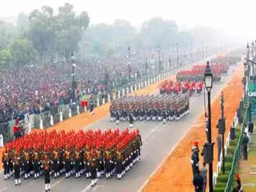
{"label": "pale white hazy sky above the treetops", "polygon": [[256,0],[1,0],[0,17],[29,13],[43,5],[54,9],[64,3],[74,5],[76,12],[88,12],[91,22],[112,24],[126,19],[134,26],[151,17],[173,19],[179,25],[214,26],[231,35],[256,38]]}

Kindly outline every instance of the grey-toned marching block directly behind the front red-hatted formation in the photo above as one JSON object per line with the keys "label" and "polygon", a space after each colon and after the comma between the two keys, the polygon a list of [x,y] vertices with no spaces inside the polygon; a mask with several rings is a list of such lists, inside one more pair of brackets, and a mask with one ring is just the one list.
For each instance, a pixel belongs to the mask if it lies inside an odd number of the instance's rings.
{"label": "grey-toned marching block directly behind the front red-hatted formation", "polygon": [[189,95],[142,95],[120,97],[111,103],[109,108],[110,121],[119,124],[129,121],[167,121],[179,120],[189,113]]}

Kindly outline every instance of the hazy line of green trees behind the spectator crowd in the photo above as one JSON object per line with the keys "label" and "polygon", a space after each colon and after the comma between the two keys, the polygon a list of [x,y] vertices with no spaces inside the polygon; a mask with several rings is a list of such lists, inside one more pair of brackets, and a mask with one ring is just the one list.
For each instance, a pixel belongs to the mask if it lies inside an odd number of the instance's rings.
{"label": "hazy line of green trees behind the spectator crowd", "polygon": [[[29,15],[20,13],[17,25],[0,21],[0,66],[22,67],[45,64],[56,60],[70,60],[72,51],[79,59],[88,55],[111,56],[127,51],[128,45],[138,50],[158,46],[169,49],[179,42],[180,47],[214,42],[216,31],[211,28],[179,30],[174,20],[161,17],[149,19],[140,28],[127,20],[114,24],[89,26],[86,11],[76,14],[72,4],[64,4],[54,13],[43,6]],[[206,35],[205,35],[206,34]]]}

